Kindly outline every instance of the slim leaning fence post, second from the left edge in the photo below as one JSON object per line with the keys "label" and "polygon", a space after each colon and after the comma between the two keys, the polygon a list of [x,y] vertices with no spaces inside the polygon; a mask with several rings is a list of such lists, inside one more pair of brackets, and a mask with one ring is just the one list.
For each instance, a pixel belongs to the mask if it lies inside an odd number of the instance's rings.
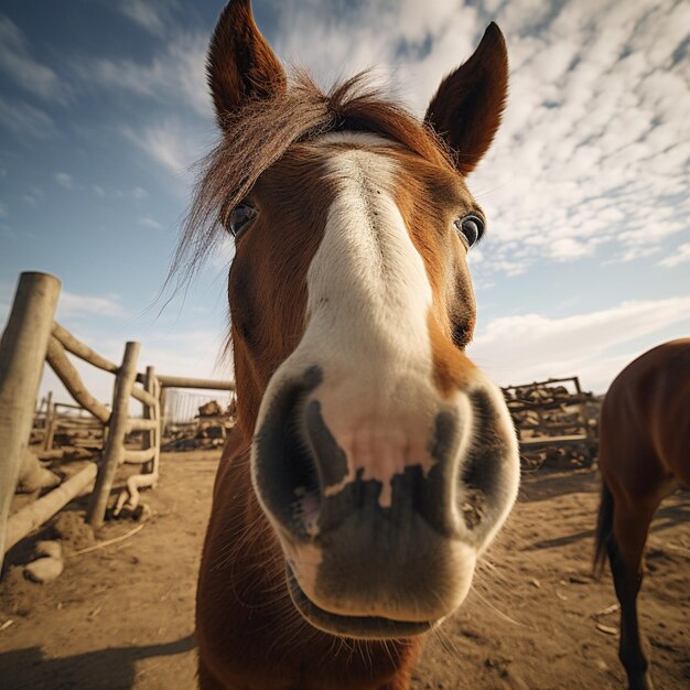
{"label": "slim leaning fence post, second from the left edge", "polygon": [[137,359],[139,358],[140,349],[141,345],[139,343],[127,343],[122,366],[115,379],[108,440],[104,449],[103,461],[98,467],[96,487],[88,506],[87,521],[94,529],[103,525],[115,473],[125,459],[125,434],[127,433],[129,421],[129,397],[132,393],[134,379],[137,378]]}

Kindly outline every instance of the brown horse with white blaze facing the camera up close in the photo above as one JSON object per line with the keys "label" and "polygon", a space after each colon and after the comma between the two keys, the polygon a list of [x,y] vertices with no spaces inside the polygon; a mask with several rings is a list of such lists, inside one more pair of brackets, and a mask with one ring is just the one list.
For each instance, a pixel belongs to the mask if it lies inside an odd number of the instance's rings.
{"label": "brown horse with white blaze facing the camera up close", "polygon": [[237,432],[198,594],[204,690],[401,690],[515,500],[500,391],[467,359],[465,186],[507,89],[492,24],[423,122],[356,77],[288,80],[249,2],[208,55],[222,140],[182,251],[236,241]]}

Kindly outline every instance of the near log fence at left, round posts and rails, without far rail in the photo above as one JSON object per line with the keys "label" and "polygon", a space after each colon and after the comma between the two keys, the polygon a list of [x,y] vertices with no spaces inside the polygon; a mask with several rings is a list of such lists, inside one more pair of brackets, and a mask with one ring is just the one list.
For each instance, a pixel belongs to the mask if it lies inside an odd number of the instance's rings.
{"label": "near log fence at left, round posts and rails, without far rail", "polygon": [[[22,273],[0,341],[0,449],[3,449],[0,455],[0,565],[9,548],[94,483],[87,520],[99,527],[120,464],[133,463],[141,465],[142,470],[129,477],[128,493],[119,497],[116,510],[126,502],[136,503],[138,489],[153,486],[158,479],[160,382],[153,367],[147,367],[145,374],[137,374],[139,343],[127,343],[122,363],[116,365],[55,323],[53,317],[60,290],[61,283],[53,276]],[[114,374],[111,409],[87,390],[67,353]],[[98,466],[88,464],[60,487],[9,516],[20,465],[28,450],[44,362],[50,364],[75,401],[104,424],[105,448]],[[142,418],[129,417],[130,397],[142,403]],[[141,450],[125,446],[126,435],[134,431],[143,434]]]}

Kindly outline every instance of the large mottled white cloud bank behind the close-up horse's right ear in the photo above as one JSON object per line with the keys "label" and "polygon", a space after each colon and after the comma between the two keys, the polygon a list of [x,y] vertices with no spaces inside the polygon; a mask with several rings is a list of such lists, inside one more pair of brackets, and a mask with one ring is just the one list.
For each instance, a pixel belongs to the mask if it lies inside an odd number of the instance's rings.
{"label": "large mottled white cloud bank behind the close-up horse's right ear", "polygon": [[506,272],[506,262],[518,263],[516,274],[553,259],[637,261],[688,231],[688,3],[319,6],[273,2],[279,54],[326,83],[343,76],[343,65],[346,74],[379,65],[419,115],[488,21],[500,25],[510,98],[496,142],[470,180],[489,219],[487,273]]}

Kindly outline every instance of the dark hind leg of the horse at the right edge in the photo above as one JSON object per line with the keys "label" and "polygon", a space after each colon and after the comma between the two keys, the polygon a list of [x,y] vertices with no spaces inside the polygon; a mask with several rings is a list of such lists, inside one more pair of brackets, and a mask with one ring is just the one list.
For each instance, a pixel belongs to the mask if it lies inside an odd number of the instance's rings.
{"label": "dark hind leg of the horse at the right edge", "polygon": [[628,507],[623,500],[616,500],[613,537],[606,545],[616,596],[621,602],[618,658],[627,672],[629,690],[654,690],[647,643],[637,621],[637,594],[643,582],[642,560],[647,532],[657,505]]}

